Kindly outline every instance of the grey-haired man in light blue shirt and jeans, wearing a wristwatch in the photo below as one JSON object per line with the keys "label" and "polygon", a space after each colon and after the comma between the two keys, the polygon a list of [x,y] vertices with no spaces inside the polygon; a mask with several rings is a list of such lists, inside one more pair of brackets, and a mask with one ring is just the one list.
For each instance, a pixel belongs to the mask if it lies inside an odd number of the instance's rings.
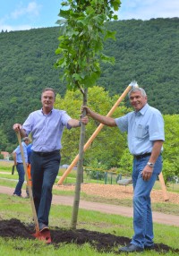
{"label": "grey-haired man in light blue shirt and jeans, wearing a wristwatch", "polygon": [[120,252],[141,252],[153,248],[153,223],[150,192],[162,170],[162,145],[165,141],[164,121],[158,109],[147,103],[145,90],[133,87],[129,98],[134,111],[119,118],[99,115],[86,109],[87,115],[101,124],[128,132],[128,147],[133,155],[133,229],[134,235]]}

